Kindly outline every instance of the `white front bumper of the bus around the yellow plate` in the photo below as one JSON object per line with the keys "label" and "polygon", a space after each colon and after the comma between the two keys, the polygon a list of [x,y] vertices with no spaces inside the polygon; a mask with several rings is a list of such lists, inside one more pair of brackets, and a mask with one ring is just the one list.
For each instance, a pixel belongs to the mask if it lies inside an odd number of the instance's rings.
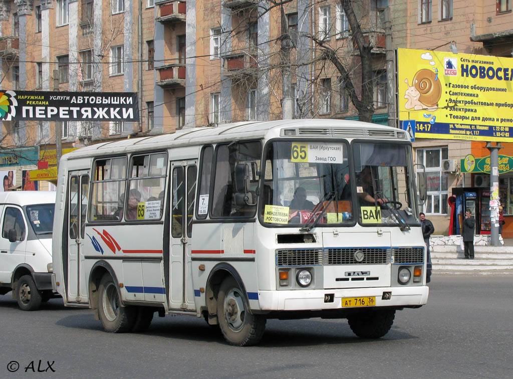
{"label": "white front bumper of the bus around the yellow plate", "polygon": [[[384,300],[384,293],[391,292]],[[429,295],[427,286],[352,288],[333,290],[259,291],[259,305],[262,311],[309,311],[342,309],[342,298],[376,298],[376,307],[417,307],[426,304]],[[325,302],[326,295],[333,294],[331,302]],[[371,308],[371,307],[369,307]]]}

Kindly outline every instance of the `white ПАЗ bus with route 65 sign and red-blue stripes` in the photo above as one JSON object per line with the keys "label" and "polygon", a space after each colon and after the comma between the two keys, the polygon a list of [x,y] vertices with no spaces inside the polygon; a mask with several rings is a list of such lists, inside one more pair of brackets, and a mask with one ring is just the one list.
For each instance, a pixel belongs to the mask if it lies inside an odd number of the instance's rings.
{"label": "white \u041f\u0410\u0417 bus with route 65 sign and red-blue stripes", "polygon": [[109,332],[158,312],[204,317],[237,346],[267,318],[347,318],[379,338],[427,302],[418,201],[411,143],[386,126],[241,122],[98,143],[61,159],[53,285]]}

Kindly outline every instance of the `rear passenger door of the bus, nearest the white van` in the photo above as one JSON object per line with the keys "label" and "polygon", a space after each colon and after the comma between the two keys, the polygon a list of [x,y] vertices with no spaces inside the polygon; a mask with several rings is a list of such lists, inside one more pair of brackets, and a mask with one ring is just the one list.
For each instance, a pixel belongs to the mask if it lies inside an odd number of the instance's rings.
{"label": "rear passenger door of the bus, nearest the white van", "polygon": [[89,196],[88,170],[69,173],[68,189],[68,302],[87,302],[87,280],[83,277],[82,245],[85,237],[87,199]]}

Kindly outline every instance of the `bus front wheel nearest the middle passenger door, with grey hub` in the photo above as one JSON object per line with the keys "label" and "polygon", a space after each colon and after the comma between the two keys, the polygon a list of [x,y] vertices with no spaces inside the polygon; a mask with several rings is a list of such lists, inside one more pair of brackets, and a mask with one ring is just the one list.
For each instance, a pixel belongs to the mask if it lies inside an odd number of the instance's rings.
{"label": "bus front wheel nearest the middle passenger door, with grey hub", "polygon": [[219,327],[230,345],[251,346],[260,342],[267,320],[251,313],[246,294],[232,277],[221,284],[217,310]]}

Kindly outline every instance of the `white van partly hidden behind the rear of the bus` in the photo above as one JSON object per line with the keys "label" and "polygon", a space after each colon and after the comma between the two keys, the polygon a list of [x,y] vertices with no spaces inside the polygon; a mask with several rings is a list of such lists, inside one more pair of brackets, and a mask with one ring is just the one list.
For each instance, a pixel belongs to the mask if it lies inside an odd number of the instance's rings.
{"label": "white van partly hidden behind the rear of the bus", "polygon": [[52,291],[52,228],[55,192],[0,193],[0,295],[33,311]]}

